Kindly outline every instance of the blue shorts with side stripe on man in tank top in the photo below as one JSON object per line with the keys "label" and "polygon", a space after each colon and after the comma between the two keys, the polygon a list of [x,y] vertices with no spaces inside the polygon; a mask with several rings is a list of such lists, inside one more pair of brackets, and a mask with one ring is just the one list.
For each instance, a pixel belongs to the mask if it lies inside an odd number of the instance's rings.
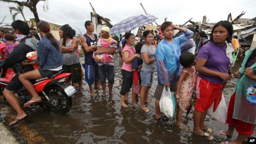
{"label": "blue shorts with side stripe on man in tank top", "polygon": [[94,84],[94,80],[100,80],[98,64],[85,64],[85,81],[88,84]]}

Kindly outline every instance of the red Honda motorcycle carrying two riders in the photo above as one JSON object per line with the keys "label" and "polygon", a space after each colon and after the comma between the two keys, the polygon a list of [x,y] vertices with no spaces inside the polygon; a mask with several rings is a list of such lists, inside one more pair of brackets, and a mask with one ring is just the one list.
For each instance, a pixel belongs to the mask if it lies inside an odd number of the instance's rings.
{"label": "red Honda motorcycle carrying two riders", "polygon": [[[0,103],[8,104],[5,97],[3,96],[3,90],[15,76],[14,70],[8,68],[1,70],[0,74]],[[67,86],[66,81],[68,80],[70,73],[62,73],[62,71],[53,74],[45,78],[39,78],[37,80],[31,80],[36,92],[42,98],[40,104],[48,107],[53,112],[60,114],[67,113],[72,106],[72,99],[70,96],[76,92],[73,86]],[[28,102],[32,96],[30,96],[28,90],[25,87],[18,90],[15,94],[21,106]]]}

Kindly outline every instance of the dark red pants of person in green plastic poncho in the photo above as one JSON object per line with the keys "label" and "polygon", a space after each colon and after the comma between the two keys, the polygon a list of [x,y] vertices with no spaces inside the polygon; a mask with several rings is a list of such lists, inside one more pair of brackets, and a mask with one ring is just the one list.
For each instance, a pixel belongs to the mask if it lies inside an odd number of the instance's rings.
{"label": "dark red pants of person in green plastic poncho", "polygon": [[236,92],[231,96],[229,106],[228,106],[228,117],[226,122],[230,126],[236,126],[236,131],[240,134],[244,135],[252,135],[255,124],[249,124],[247,122],[243,122],[242,120],[237,120],[233,117],[234,112],[234,104],[235,104]]}

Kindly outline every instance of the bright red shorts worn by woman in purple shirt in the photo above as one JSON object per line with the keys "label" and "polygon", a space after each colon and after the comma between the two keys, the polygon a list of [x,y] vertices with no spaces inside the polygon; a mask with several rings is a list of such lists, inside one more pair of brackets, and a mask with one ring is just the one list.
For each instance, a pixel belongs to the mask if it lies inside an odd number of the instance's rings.
{"label": "bright red shorts worn by woman in purple shirt", "polygon": [[196,103],[195,110],[204,112],[212,106],[217,98],[222,96],[222,85],[213,82],[208,82],[197,76],[196,78]]}

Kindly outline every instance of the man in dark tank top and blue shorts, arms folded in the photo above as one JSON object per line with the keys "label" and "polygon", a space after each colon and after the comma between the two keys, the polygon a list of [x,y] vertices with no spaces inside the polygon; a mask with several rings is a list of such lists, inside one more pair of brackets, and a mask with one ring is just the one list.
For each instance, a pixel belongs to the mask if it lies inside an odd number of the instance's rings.
{"label": "man in dark tank top and blue shorts, arms folded", "polygon": [[98,36],[97,34],[93,34],[94,32],[94,24],[92,21],[88,20],[84,24],[86,28],[86,33],[84,36],[81,36],[81,42],[82,42],[82,48],[84,50],[84,62],[83,67],[85,69],[85,81],[88,83],[90,88],[90,95],[95,96],[95,93],[92,89],[92,84],[94,84],[94,89],[101,89],[101,87],[98,86],[100,83],[100,75],[98,70],[98,63],[94,61],[94,58],[92,58],[92,54],[94,51],[97,50],[97,41]]}

